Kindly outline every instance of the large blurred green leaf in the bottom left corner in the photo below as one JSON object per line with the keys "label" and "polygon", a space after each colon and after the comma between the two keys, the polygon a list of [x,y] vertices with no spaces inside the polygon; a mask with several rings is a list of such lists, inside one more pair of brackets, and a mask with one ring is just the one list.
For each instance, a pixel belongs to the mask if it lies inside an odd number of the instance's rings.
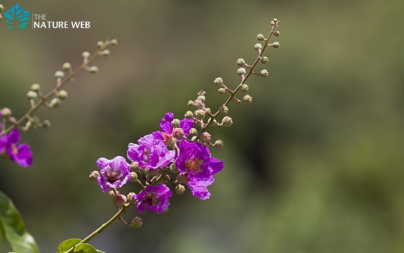
{"label": "large blurred green leaf in the bottom left corner", "polygon": [[39,253],[34,238],[25,230],[24,221],[16,207],[2,191],[0,191],[0,231],[11,248],[19,253]]}

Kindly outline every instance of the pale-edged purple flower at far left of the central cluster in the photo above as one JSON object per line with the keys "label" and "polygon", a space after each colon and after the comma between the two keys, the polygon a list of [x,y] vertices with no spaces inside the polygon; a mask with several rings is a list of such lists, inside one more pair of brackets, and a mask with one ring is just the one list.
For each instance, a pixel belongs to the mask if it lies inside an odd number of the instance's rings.
{"label": "pale-edged purple flower at far left of the central cluster", "polygon": [[130,167],[123,157],[116,157],[112,160],[100,158],[96,162],[100,169],[97,183],[106,192],[111,188],[120,188],[130,180]]}

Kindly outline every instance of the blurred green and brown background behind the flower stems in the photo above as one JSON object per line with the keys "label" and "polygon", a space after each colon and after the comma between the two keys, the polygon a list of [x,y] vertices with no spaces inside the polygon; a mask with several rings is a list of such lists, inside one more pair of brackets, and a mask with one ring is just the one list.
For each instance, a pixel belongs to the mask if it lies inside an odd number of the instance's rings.
{"label": "blurred green and brown background behind the flower stems", "polygon": [[22,135],[33,166],[0,160],[0,189],[42,252],[115,213],[88,180],[96,159],[125,156],[165,112],[181,117],[200,89],[217,108],[225,97],[213,79],[235,87],[235,61],[255,59],[256,35],[275,17],[281,46],[260,66],[270,77],[252,77],[254,103],[231,104],[234,125],[211,130],[225,142],[212,150],[225,168],[211,198],[175,194],[168,213],[141,215],[138,230],[113,224],[92,244],[107,252],[404,252],[403,1],[18,4],[91,28],[10,31],[0,21],[0,107],[16,117],[32,83],[50,90],[64,62],[77,67],[98,40],[119,41],[95,60],[99,73],[66,86],[60,109],[38,112],[52,128]]}

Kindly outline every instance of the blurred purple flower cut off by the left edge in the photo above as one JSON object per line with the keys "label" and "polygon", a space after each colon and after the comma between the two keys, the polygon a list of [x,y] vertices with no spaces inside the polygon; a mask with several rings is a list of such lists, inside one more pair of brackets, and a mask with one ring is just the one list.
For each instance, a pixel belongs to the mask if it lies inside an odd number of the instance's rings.
{"label": "blurred purple flower cut off by the left edge", "polygon": [[0,153],[7,153],[11,160],[22,167],[32,164],[32,153],[28,144],[18,144],[20,133],[14,128],[10,134],[0,137]]}

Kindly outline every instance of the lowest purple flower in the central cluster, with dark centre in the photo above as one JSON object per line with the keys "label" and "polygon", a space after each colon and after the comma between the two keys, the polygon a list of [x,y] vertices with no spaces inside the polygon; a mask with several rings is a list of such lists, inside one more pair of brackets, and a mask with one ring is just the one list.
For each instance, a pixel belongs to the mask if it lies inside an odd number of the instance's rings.
{"label": "lowest purple flower in the central cluster, with dark centre", "polygon": [[132,199],[137,200],[136,208],[139,213],[144,213],[144,207],[146,207],[148,211],[161,214],[170,206],[168,198],[172,195],[170,188],[165,184],[147,185],[142,192],[134,195]]}

